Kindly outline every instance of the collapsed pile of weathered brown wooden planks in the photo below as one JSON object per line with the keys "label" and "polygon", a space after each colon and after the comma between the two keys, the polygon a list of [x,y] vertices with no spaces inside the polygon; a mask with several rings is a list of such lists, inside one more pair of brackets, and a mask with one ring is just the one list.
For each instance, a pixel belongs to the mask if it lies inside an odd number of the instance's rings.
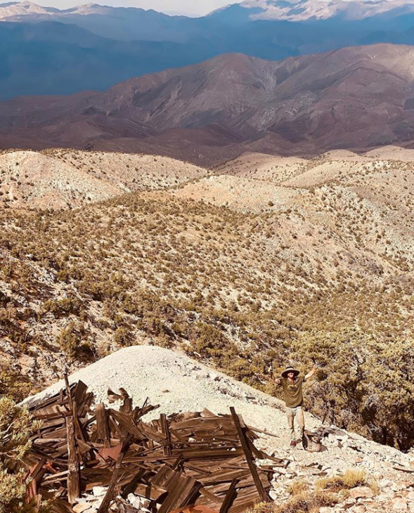
{"label": "collapsed pile of weathered brown wooden planks", "polygon": [[[25,457],[27,500],[53,501],[53,512],[72,513],[82,495],[105,488],[98,513],[140,511],[128,498],[145,498],[150,512],[169,513],[196,505],[219,513],[242,513],[268,501],[274,466],[287,462],[254,446],[254,428],[231,408],[228,415],[160,415],[157,406],[135,407],[127,392],[108,391],[119,408],[95,404],[82,382],[30,407],[42,426]],[[257,467],[254,458],[270,458]],[[132,495],[131,495],[132,494]]]}

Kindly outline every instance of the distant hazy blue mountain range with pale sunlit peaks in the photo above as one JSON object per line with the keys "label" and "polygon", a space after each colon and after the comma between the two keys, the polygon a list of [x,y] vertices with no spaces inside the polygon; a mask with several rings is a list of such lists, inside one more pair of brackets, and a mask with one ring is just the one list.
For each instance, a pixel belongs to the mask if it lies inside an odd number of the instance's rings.
{"label": "distant hazy blue mountain range with pale sunlit peaks", "polygon": [[224,53],[281,60],[346,46],[414,44],[411,1],[249,0],[201,18],[88,4],[0,4],[0,98],[104,91]]}

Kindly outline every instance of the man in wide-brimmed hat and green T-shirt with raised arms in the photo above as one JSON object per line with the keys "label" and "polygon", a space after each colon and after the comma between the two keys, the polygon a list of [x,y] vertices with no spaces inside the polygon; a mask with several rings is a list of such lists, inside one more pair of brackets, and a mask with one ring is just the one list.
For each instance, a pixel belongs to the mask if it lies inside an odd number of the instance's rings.
{"label": "man in wide-brimmed hat and green T-shirt with raised arms", "polygon": [[[304,412],[302,405],[304,402],[304,396],[302,393],[302,383],[315,374],[317,368],[313,365],[313,368],[304,377],[299,376],[299,370],[288,366],[283,372],[282,377],[274,379],[275,383],[283,386],[283,394],[285,395],[286,404],[286,417],[287,424],[290,429],[290,446],[295,447],[297,443],[302,441],[305,429]],[[299,426],[299,438],[296,438],[295,433],[295,418]]]}

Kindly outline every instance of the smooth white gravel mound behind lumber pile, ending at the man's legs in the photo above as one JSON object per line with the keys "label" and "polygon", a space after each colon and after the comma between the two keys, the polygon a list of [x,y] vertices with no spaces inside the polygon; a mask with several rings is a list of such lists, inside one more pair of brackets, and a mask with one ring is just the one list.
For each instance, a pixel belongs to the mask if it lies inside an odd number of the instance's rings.
{"label": "smooth white gravel mound behind lumber pile, ending at the man's legs", "polygon": [[[229,413],[230,406],[234,406],[246,422],[269,431],[278,431],[285,418],[283,405],[277,399],[188,356],[157,346],[121,349],[70,376],[70,382],[79,379],[95,392],[97,401],[108,403],[108,388],[117,392],[119,387],[127,390],[134,405],[141,405],[148,397],[151,404],[160,404],[153,417],[204,408]],[[63,381],[53,384],[29,401],[54,394],[63,386]],[[309,422],[318,424],[310,415]]]}

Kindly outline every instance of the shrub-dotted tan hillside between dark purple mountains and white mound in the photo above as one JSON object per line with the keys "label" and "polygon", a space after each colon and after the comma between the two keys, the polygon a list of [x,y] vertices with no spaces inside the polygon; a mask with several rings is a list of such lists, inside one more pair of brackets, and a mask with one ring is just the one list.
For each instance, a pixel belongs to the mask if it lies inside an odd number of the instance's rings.
{"label": "shrub-dotted tan hillside between dark purple mountains and white mound", "polygon": [[[153,155],[58,150],[39,162],[131,192],[51,209],[52,181],[34,210],[16,191],[35,168],[16,155],[0,156],[11,164],[0,184],[0,393],[21,398],[136,343],[182,349],[268,391],[272,361],[316,358],[329,372],[313,413],[412,446],[403,415],[414,390],[398,392],[413,370],[412,150],[247,153],[209,172]],[[82,190],[70,179],[65,190]],[[390,387],[381,400],[378,380]]]}

